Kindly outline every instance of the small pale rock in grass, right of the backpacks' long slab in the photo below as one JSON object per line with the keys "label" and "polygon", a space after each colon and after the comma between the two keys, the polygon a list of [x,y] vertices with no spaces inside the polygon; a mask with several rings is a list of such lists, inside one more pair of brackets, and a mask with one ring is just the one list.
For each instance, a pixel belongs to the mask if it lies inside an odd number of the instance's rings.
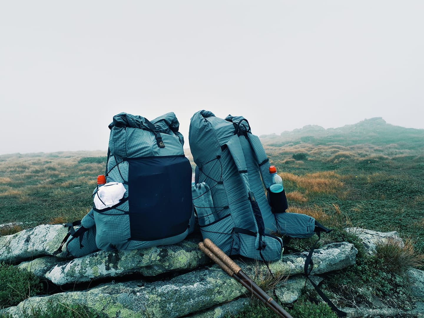
{"label": "small pale rock in grass, right of the backpacks' long slab", "polygon": [[367,229],[361,229],[357,227],[349,227],[345,229],[346,232],[357,235],[361,240],[362,244],[368,254],[373,255],[376,253],[378,244],[384,244],[388,241],[398,243],[403,246],[403,240],[399,237],[399,233],[393,232],[377,232]]}

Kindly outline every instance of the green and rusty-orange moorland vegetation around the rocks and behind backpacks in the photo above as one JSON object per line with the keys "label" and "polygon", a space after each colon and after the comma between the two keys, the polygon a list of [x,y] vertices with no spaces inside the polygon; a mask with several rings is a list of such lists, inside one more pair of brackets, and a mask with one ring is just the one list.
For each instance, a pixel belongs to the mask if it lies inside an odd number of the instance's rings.
{"label": "green and rusty-orange moorland vegetation around the rocks and behind backpacks", "polygon": [[[287,212],[311,215],[334,229],[321,237],[318,247],[348,241],[359,251],[355,265],[326,275],[321,288],[342,307],[373,306],[371,299],[378,299],[390,306],[408,308],[413,299],[405,272],[410,267],[424,269],[423,131],[391,126],[378,119],[334,130],[308,129],[261,136],[261,140],[284,181]],[[192,162],[190,153],[187,156]],[[81,219],[92,206],[91,193],[105,164],[106,151],[0,156],[0,224],[22,223],[2,230],[0,235],[42,223]],[[397,231],[403,244],[393,241],[379,245],[377,255],[370,256],[357,237],[344,230],[346,227]],[[314,241],[292,239],[290,245],[308,250]],[[8,285],[1,283],[0,295],[6,288],[16,291],[0,298],[1,306],[11,306],[42,292],[42,285],[33,277],[16,275],[13,266],[0,266],[0,282],[1,277],[14,277]],[[265,289],[276,283],[269,277],[257,279]],[[28,288],[28,282],[32,287]],[[315,292],[307,292],[285,308],[298,318],[335,317],[326,304],[315,304],[311,299],[320,298]],[[64,307],[52,307],[50,311]],[[100,317],[95,315],[83,317]],[[228,317],[276,315],[259,305]]]}

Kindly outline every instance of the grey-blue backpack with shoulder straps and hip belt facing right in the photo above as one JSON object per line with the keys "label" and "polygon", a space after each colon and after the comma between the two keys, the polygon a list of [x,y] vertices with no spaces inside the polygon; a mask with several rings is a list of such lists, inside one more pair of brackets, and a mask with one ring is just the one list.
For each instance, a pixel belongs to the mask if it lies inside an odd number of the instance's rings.
{"label": "grey-blue backpack with shoulder straps and hip belt facing right", "polygon": [[227,255],[275,261],[283,250],[280,235],[305,238],[329,231],[308,215],[285,212],[284,191],[269,195],[270,163],[245,118],[229,115],[224,120],[209,111],[196,112],[189,140],[198,183],[210,189],[215,213],[211,218],[202,214],[211,207],[195,206],[198,218],[212,220],[200,226],[201,234]]}

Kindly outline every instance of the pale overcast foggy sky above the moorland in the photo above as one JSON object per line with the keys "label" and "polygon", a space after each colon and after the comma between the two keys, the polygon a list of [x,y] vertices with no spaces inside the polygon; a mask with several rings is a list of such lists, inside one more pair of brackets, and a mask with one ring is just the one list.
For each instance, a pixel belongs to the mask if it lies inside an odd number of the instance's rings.
{"label": "pale overcast foggy sky above the moorland", "polygon": [[280,134],[424,128],[424,1],[0,0],[0,154],[106,150],[120,112]]}

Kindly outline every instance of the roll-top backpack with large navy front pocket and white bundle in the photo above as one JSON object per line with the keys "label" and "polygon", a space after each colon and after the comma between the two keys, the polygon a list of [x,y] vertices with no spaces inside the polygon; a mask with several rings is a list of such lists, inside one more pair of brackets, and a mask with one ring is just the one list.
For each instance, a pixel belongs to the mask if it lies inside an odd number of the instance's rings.
{"label": "roll-top backpack with large navy front pocket and white bundle", "polygon": [[[92,195],[103,205],[94,205],[81,222],[67,224],[72,226],[62,245],[67,243],[68,254],[80,257],[98,249],[131,250],[184,240],[194,229],[192,167],[175,114],[150,122],[120,113],[109,129],[107,183]],[[100,197],[110,185],[123,190],[119,200]]]}

